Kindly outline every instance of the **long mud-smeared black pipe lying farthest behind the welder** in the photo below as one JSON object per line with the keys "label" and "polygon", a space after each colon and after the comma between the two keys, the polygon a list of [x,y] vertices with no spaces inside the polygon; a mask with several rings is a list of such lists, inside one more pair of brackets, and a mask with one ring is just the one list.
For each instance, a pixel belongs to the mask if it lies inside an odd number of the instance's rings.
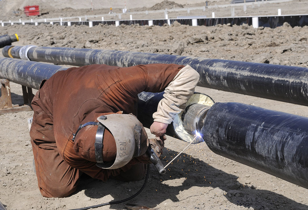
{"label": "long mud-smeared black pipe lying farthest behind the welder", "polygon": [[[11,50],[19,58],[21,47]],[[3,49],[7,54],[7,48]],[[308,105],[308,68],[163,55],[142,52],[94,50],[66,47],[31,47],[30,60],[83,66],[108,64],[133,66],[150,63],[190,65],[200,74],[199,86],[277,101]]]}

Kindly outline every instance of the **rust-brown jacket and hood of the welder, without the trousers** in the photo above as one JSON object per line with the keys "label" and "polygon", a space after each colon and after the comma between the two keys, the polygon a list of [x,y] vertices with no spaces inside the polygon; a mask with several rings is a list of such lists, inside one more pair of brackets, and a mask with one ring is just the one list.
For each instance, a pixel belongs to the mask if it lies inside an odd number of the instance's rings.
{"label": "rust-brown jacket and hood of the welder, without the trousers", "polygon": [[[123,111],[137,114],[138,93],[162,92],[184,66],[176,64],[148,64],[127,68],[108,65],[89,65],[69,68],[43,81],[35,95],[34,121],[39,117],[39,106],[50,118],[54,139],[60,156],[71,167],[78,168],[93,178],[106,180],[95,165],[95,134],[97,126],[85,126],[73,142],[72,134],[80,124],[96,121],[97,117]],[[31,135],[31,132],[30,132]],[[108,155],[107,155],[108,154]],[[114,138],[105,131],[103,160],[115,159]]]}

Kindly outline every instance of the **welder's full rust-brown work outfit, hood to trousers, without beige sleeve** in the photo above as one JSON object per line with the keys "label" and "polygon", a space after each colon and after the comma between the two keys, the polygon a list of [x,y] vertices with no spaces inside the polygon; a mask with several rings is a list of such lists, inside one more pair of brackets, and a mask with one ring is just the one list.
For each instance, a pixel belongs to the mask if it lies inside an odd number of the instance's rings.
{"label": "welder's full rust-brown work outfit, hood to trousers, without beige sleeve", "polygon": [[[184,66],[148,64],[127,68],[89,65],[60,71],[44,80],[31,103],[34,116],[30,129],[39,190],[45,197],[65,197],[76,190],[82,173],[107,180],[142,179],[145,165],[132,159],[119,169],[95,165],[97,126],[85,126],[71,140],[80,124],[123,111],[137,114],[138,93],[162,92]],[[115,159],[116,146],[106,129],[103,161]]]}

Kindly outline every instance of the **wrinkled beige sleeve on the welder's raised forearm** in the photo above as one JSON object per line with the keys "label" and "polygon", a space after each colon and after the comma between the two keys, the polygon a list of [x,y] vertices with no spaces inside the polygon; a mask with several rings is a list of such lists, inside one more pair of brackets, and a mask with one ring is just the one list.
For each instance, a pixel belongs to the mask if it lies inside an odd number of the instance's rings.
{"label": "wrinkled beige sleeve on the welder's raised forearm", "polygon": [[189,65],[182,68],[164,90],[164,98],[160,100],[157,112],[153,113],[154,121],[170,124],[174,116],[185,109],[199,78],[199,73]]}

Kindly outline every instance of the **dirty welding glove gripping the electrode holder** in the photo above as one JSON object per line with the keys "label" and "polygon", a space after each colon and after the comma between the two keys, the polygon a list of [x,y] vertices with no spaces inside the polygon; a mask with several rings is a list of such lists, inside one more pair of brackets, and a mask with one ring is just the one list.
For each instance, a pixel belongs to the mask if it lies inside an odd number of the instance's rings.
{"label": "dirty welding glove gripping the electrode holder", "polygon": [[[165,140],[166,140],[165,135],[162,135],[160,137],[156,136],[155,138],[149,139],[150,146],[154,150],[154,152],[157,154],[158,158],[160,158],[161,154],[163,154],[163,148],[164,148],[164,141]],[[150,161],[150,157],[146,153],[139,156],[139,157],[136,157],[136,159],[138,161],[140,161],[141,163],[145,163],[145,164],[152,163]]]}

